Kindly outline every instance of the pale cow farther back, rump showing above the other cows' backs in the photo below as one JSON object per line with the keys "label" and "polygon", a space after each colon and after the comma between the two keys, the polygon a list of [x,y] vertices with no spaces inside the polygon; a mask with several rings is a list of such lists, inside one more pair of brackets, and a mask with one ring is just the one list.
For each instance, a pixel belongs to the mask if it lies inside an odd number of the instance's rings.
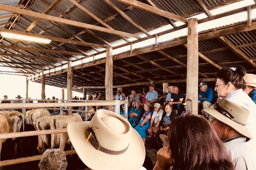
{"label": "pale cow farther back, rump showing above the other cows' backs", "polygon": [[39,117],[43,117],[43,116],[51,116],[50,112],[45,109],[45,108],[40,108],[40,109],[32,109],[31,111],[29,111],[25,118],[26,118],[26,123],[27,124],[33,124],[33,122],[35,120],[37,120],[37,118]]}

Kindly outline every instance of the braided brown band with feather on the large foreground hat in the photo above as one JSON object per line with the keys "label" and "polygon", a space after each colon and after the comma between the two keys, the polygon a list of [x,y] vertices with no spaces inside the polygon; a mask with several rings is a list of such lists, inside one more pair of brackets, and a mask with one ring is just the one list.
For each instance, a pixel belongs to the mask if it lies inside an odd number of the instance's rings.
{"label": "braided brown band with feather on the large foreground hat", "polygon": [[110,154],[110,155],[120,155],[122,153],[125,153],[126,150],[128,149],[129,144],[123,150],[109,150],[107,148],[102,147],[101,145],[99,145],[99,142],[98,142],[98,140],[97,140],[97,138],[95,136],[95,133],[94,133],[92,128],[93,127],[89,127],[89,124],[88,124],[88,126],[86,128],[86,138],[87,138],[87,140],[90,141],[90,143],[94,146],[95,149],[97,149],[99,151],[102,151],[104,153]]}

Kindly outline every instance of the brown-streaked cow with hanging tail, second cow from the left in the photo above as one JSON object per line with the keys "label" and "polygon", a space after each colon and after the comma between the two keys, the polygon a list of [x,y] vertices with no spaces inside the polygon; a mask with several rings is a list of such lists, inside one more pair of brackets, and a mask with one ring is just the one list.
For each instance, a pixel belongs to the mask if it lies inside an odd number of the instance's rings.
{"label": "brown-streaked cow with hanging tail, second cow from the left", "polygon": [[[1,115],[7,118],[7,122],[9,124],[9,132],[20,132],[20,127],[23,124],[24,125],[24,114],[18,112],[18,111],[4,111],[0,112]],[[24,126],[23,126],[24,131]],[[12,138],[14,140],[15,138]]]}

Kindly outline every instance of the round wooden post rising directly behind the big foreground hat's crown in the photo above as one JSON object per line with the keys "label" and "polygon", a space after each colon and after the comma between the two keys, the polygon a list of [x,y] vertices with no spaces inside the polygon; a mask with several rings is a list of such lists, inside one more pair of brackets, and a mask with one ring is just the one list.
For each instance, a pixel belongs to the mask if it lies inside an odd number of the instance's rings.
{"label": "round wooden post rising directly behind the big foreground hat's crown", "polygon": [[[113,48],[107,47],[106,50],[106,70],[105,70],[105,88],[106,100],[113,99]],[[107,110],[112,111],[112,106],[106,106]]]}

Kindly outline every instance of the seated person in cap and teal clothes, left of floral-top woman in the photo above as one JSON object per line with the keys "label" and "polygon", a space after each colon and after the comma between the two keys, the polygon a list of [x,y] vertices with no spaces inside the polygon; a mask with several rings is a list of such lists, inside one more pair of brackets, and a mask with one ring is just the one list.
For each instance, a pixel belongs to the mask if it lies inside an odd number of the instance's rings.
{"label": "seated person in cap and teal clothes, left of floral-top woman", "polygon": [[136,122],[140,121],[141,114],[142,114],[142,107],[141,107],[141,102],[136,101],[136,105],[132,107],[132,109],[128,113],[128,122],[132,125],[133,128],[137,125]]}

